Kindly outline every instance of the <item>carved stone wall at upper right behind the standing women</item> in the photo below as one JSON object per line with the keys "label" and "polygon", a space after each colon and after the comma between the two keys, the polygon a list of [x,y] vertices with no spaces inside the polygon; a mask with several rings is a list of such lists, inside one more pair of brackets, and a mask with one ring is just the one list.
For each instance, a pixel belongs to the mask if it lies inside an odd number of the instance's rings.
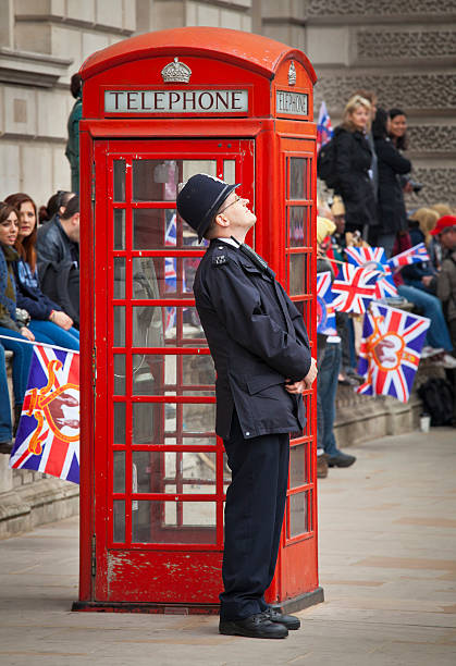
{"label": "carved stone wall at upper right behind the standing women", "polygon": [[456,206],[456,4],[267,0],[261,7],[264,34],[288,37],[316,69],[316,115],[324,100],[334,126],[359,88],[374,90],[386,109],[404,109],[414,177],[424,185],[408,207]]}

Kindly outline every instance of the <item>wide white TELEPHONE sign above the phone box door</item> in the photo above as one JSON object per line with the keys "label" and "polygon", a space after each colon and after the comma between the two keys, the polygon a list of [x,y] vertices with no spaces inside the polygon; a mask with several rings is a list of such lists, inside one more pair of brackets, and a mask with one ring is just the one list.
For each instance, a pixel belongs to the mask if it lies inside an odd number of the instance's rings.
{"label": "wide white TELEPHONE sign above the phone box door", "polygon": [[106,113],[242,113],[248,90],[104,90]]}

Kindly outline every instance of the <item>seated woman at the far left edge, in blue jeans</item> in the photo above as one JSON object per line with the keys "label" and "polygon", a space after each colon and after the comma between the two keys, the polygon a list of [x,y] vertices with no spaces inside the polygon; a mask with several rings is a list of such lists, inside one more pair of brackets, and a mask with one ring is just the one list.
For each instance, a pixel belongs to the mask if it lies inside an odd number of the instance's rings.
{"label": "seated woman at the far left edge, in blue jeans", "polygon": [[[8,203],[0,203],[0,342],[4,349],[13,351],[13,392],[14,392],[14,415],[15,424],[22,411],[24,394],[27,390],[28,369],[30,367],[33,346],[21,341],[35,340],[34,334],[22,323],[16,321],[16,298],[13,264],[17,261],[17,252],[14,243],[17,238],[19,217],[15,209]],[[15,338],[15,340],[11,340]],[[1,359],[0,359],[1,360]],[[4,360],[4,359],[3,359]],[[4,362],[2,361],[2,367]],[[0,385],[1,402],[3,407],[10,408],[10,396],[8,384]],[[9,428],[7,414],[3,415],[2,434],[7,436],[3,441],[5,451],[9,453]]]}

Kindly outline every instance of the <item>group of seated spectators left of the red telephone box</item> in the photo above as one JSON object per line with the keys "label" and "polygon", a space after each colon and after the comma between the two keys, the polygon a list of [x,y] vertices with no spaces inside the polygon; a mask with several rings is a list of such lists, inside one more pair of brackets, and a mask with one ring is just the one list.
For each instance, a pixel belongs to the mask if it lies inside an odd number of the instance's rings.
{"label": "group of seated spectators left of the red telephone box", "polygon": [[[0,202],[0,453],[9,454],[33,343],[79,349],[79,200],[53,195],[38,211],[25,193]],[[30,344],[32,343],[32,344]],[[14,419],[4,365],[13,353]]]}

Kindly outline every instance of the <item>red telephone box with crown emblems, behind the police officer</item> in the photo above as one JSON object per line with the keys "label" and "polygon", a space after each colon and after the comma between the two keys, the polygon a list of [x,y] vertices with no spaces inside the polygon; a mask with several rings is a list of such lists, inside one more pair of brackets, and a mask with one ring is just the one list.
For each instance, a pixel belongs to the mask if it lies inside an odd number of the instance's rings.
{"label": "red telephone box with crown emblems, behind the police officer", "polygon": [[[214,368],[192,285],[205,247],[177,184],[242,183],[247,242],[315,325],[313,69],[278,41],[177,28],[83,65],[81,589],[76,609],[214,613],[222,589],[223,443]],[[313,346],[315,348],[315,346]],[[291,440],[289,490],[268,601],[318,587],[316,404]]]}

